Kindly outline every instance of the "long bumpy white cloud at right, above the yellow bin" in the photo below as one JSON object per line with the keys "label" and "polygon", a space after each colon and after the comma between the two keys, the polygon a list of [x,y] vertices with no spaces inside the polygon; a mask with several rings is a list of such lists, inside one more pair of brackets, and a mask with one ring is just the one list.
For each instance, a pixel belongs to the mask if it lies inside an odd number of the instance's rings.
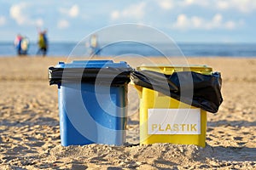
{"label": "long bumpy white cloud at right, above the yellow bin", "polygon": [[237,26],[242,26],[242,21],[223,20],[221,14],[215,14],[211,20],[205,20],[199,16],[187,17],[185,14],[179,14],[176,22],[173,24],[173,28],[179,30],[188,29],[201,29],[201,30],[212,30],[212,29],[227,29],[233,30]]}

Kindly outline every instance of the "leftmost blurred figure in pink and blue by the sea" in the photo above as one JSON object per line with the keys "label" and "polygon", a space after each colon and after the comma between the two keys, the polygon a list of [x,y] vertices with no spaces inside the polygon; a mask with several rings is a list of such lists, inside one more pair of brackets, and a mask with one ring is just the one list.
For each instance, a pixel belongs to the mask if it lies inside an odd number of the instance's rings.
{"label": "leftmost blurred figure in pink and blue by the sea", "polygon": [[15,48],[18,55],[26,55],[29,48],[29,40],[27,37],[22,37],[18,34],[15,37]]}

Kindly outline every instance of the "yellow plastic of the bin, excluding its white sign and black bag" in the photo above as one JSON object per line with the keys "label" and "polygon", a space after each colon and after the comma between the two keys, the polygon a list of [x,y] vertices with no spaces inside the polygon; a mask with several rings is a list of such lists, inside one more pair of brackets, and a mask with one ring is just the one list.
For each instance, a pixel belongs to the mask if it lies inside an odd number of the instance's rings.
{"label": "yellow plastic of the bin, excluding its white sign and black bag", "polygon": [[[145,65],[137,68],[138,71],[157,71],[166,75],[172,75],[174,71],[195,71],[202,74],[211,74],[212,68],[200,65],[171,66],[171,65]],[[135,85],[140,96],[140,144],[172,143],[172,144],[196,144],[202,147],[206,145],[207,111],[203,111],[191,105],[184,104],[177,99],[160,94],[149,88]],[[148,111],[160,109],[160,111],[177,111],[197,109],[200,112],[200,134],[148,134]],[[161,115],[159,115],[161,116]],[[177,116],[179,116],[177,114]],[[171,122],[172,124],[172,122]],[[150,128],[150,127],[149,127]],[[167,127],[156,127],[165,130]]]}

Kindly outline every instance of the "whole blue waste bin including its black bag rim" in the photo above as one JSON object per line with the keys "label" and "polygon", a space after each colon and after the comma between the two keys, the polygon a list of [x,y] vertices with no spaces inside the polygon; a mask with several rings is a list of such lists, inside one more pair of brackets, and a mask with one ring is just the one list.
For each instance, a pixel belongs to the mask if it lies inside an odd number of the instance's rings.
{"label": "whole blue waste bin including its black bag rim", "polygon": [[125,143],[131,67],[113,60],[74,60],[49,67],[58,85],[61,145]]}

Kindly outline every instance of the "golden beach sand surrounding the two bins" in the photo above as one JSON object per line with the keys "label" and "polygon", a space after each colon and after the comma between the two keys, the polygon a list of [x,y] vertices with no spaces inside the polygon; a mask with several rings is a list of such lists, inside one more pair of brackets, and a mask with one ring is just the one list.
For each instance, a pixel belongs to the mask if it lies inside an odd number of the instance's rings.
{"label": "golden beach sand surrounding the two bins", "polygon": [[[207,146],[139,142],[137,93],[129,86],[127,144],[61,146],[57,87],[47,70],[63,58],[0,58],[0,169],[255,169],[256,59],[191,58],[223,77],[224,102],[207,113]],[[160,61],[160,59],[153,59]],[[137,59],[128,59],[137,65]],[[133,144],[133,145],[132,145]]]}

